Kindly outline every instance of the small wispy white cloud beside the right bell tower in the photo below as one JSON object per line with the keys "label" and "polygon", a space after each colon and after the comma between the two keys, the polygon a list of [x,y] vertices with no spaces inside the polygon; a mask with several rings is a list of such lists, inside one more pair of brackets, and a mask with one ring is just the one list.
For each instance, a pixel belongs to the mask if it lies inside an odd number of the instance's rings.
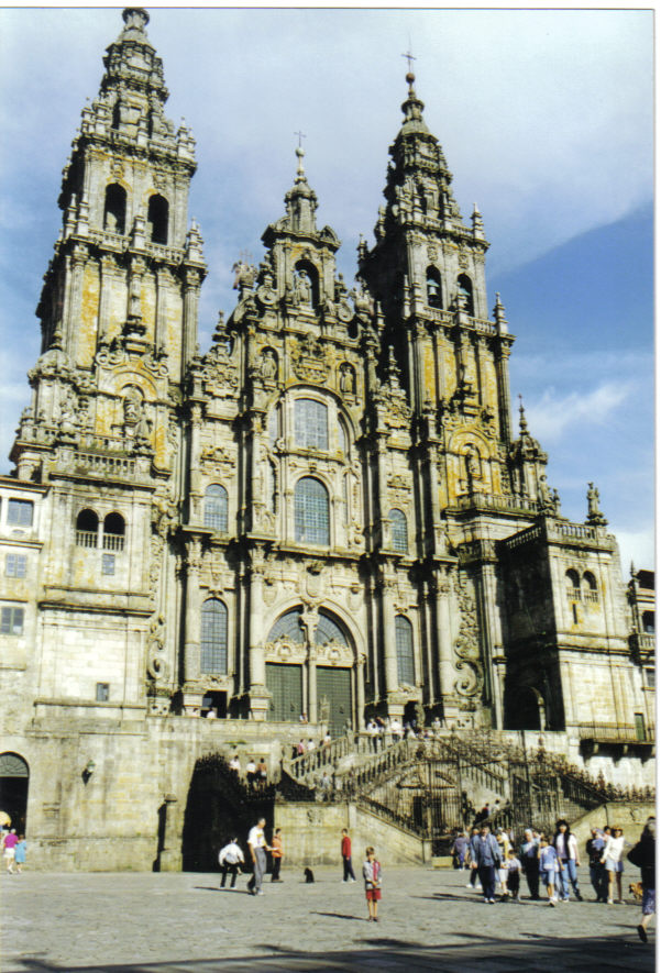
{"label": "small wispy white cloud beside the right bell tower", "polygon": [[587,392],[559,395],[554,388],[547,388],[541,399],[527,405],[528,425],[542,443],[558,442],[568,430],[576,433],[590,425],[603,425],[634,389],[632,384],[609,382]]}

